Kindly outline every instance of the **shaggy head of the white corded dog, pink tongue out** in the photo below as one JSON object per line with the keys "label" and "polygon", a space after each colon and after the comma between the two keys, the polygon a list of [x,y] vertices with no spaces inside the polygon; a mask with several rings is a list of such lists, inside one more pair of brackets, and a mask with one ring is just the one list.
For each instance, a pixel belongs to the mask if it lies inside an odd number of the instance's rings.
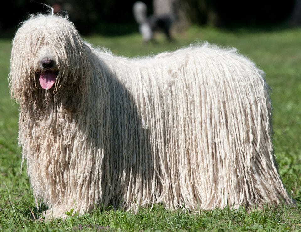
{"label": "shaggy head of the white corded dog, pink tongue out", "polygon": [[88,72],[87,46],[67,18],[39,14],[17,30],[9,80],[12,97],[21,104],[62,99],[74,104]]}

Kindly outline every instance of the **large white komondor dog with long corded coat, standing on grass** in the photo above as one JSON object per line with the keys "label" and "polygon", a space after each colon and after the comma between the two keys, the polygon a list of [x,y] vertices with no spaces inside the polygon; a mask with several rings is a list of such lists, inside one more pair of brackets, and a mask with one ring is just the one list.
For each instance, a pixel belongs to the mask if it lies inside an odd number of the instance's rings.
{"label": "large white komondor dog with long corded coat, standing on grass", "polygon": [[31,16],[13,39],[9,81],[36,202],[46,218],[291,204],[264,76],[234,49],[116,57],[67,18]]}

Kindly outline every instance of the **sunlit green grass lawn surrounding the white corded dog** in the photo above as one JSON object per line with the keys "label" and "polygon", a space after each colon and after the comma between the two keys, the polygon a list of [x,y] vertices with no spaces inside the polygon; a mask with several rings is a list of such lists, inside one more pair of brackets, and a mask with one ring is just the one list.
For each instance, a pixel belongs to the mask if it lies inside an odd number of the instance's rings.
{"label": "sunlit green grass lawn surrounding the white corded dog", "polygon": [[11,39],[0,39],[0,231],[195,231],[301,230],[301,29],[223,31],[191,27],[175,35],[168,43],[158,37],[156,44],[142,44],[139,34],[85,39],[95,46],[106,47],[122,56],[143,56],[175,50],[190,43],[207,40],[223,47],[235,47],[266,72],[272,88],[274,147],[283,182],[297,208],[265,208],[253,212],[244,209],[216,209],[195,214],[169,212],[156,205],[137,214],[123,211],[95,210],[82,217],[62,221],[36,222],[36,209],[26,165],[20,172],[21,149],[17,144],[18,104],[10,99],[7,76]]}

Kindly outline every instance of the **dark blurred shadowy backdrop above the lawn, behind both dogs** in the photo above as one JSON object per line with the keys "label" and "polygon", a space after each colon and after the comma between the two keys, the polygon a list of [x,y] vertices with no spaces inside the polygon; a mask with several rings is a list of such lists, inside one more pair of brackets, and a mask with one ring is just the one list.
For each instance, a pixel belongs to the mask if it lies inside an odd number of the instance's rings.
{"label": "dark blurred shadowy backdrop above the lawn, behind both dogs", "polygon": [[[18,24],[31,13],[69,13],[70,20],[82,34],[107,35],[137,31],[132,7],[136,0],[13,0],[2,2],[0,33],[14,33]],[[191,24],[215,27],[258,27],[300,23],[300,0],[145,0],[148,14],[172,11],[177,29]]]}

